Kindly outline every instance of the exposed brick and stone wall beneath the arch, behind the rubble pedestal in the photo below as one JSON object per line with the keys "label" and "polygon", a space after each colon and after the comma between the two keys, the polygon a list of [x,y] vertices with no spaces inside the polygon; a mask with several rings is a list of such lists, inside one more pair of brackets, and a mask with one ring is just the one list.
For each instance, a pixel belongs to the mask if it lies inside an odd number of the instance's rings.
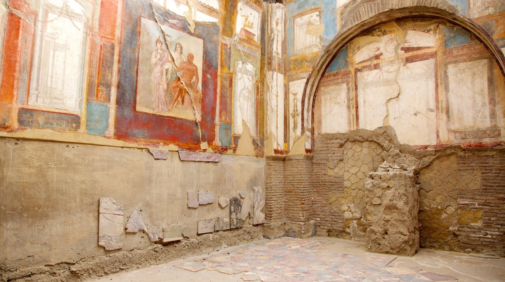
{"label": "exposed brick and stone wall beneath the arch, behind the rubble pedestal", "polygon": [[386,161],[418,172],[421,247],[503,256],[503,154],[502,147],[417,151],[383,129],[320,135],[312,173],[317,234],[365,240],[362,174]]}

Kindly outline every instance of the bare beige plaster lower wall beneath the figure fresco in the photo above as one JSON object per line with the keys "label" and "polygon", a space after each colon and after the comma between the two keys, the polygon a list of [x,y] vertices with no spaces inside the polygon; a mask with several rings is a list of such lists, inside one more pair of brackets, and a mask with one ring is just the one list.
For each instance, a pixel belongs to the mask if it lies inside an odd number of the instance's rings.
{"label": "bare beige plaster lower wall beneath the figure fresco", "polygon": [[[245,219],[245,227],[215,233],[219,247],[262,238],[262,228],[252,228],[249,221],[253,188],[265,187],[262,158],[222,156],[221,162],[208,163],[180,161],[177,152],[169,152],[167,160],[155,160],[141,148],[1,138],[0,168],[2,272],[62,262],[72,265],[134,249],[152,250],[155,245],[142,231],[123,232],[120,251],[107,252],[97,245],[101,197],[113,197],[123,205],[125,223],[139,208],[148,226],[188,226],[190,238],[182,246],[198,243],[180,249],[182,256],[216,248],[216,242],[200,240],[196,233],[198,221],[230,216],[229,206],[218,205],[219,197],[240,198]],[[211,192],[215,200],[188,208],[188,191]],[[221,239],[225,237],[228,239]],[[169,249],[174,248],[171,245]],[[149,256],[156,259],[154,253]],[[161,256],[163,259],[166,257]]]}

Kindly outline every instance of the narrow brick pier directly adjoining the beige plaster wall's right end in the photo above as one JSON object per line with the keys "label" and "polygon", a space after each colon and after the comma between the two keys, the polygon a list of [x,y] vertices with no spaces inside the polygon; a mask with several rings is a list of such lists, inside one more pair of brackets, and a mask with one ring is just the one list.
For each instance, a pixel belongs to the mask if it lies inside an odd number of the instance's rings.
{"label": "narrow brick pier directly adjoining the beige plaster wall's right end", "polygon": [[267,158],[265,209],[267,222],[284,218],[284,160]]}

